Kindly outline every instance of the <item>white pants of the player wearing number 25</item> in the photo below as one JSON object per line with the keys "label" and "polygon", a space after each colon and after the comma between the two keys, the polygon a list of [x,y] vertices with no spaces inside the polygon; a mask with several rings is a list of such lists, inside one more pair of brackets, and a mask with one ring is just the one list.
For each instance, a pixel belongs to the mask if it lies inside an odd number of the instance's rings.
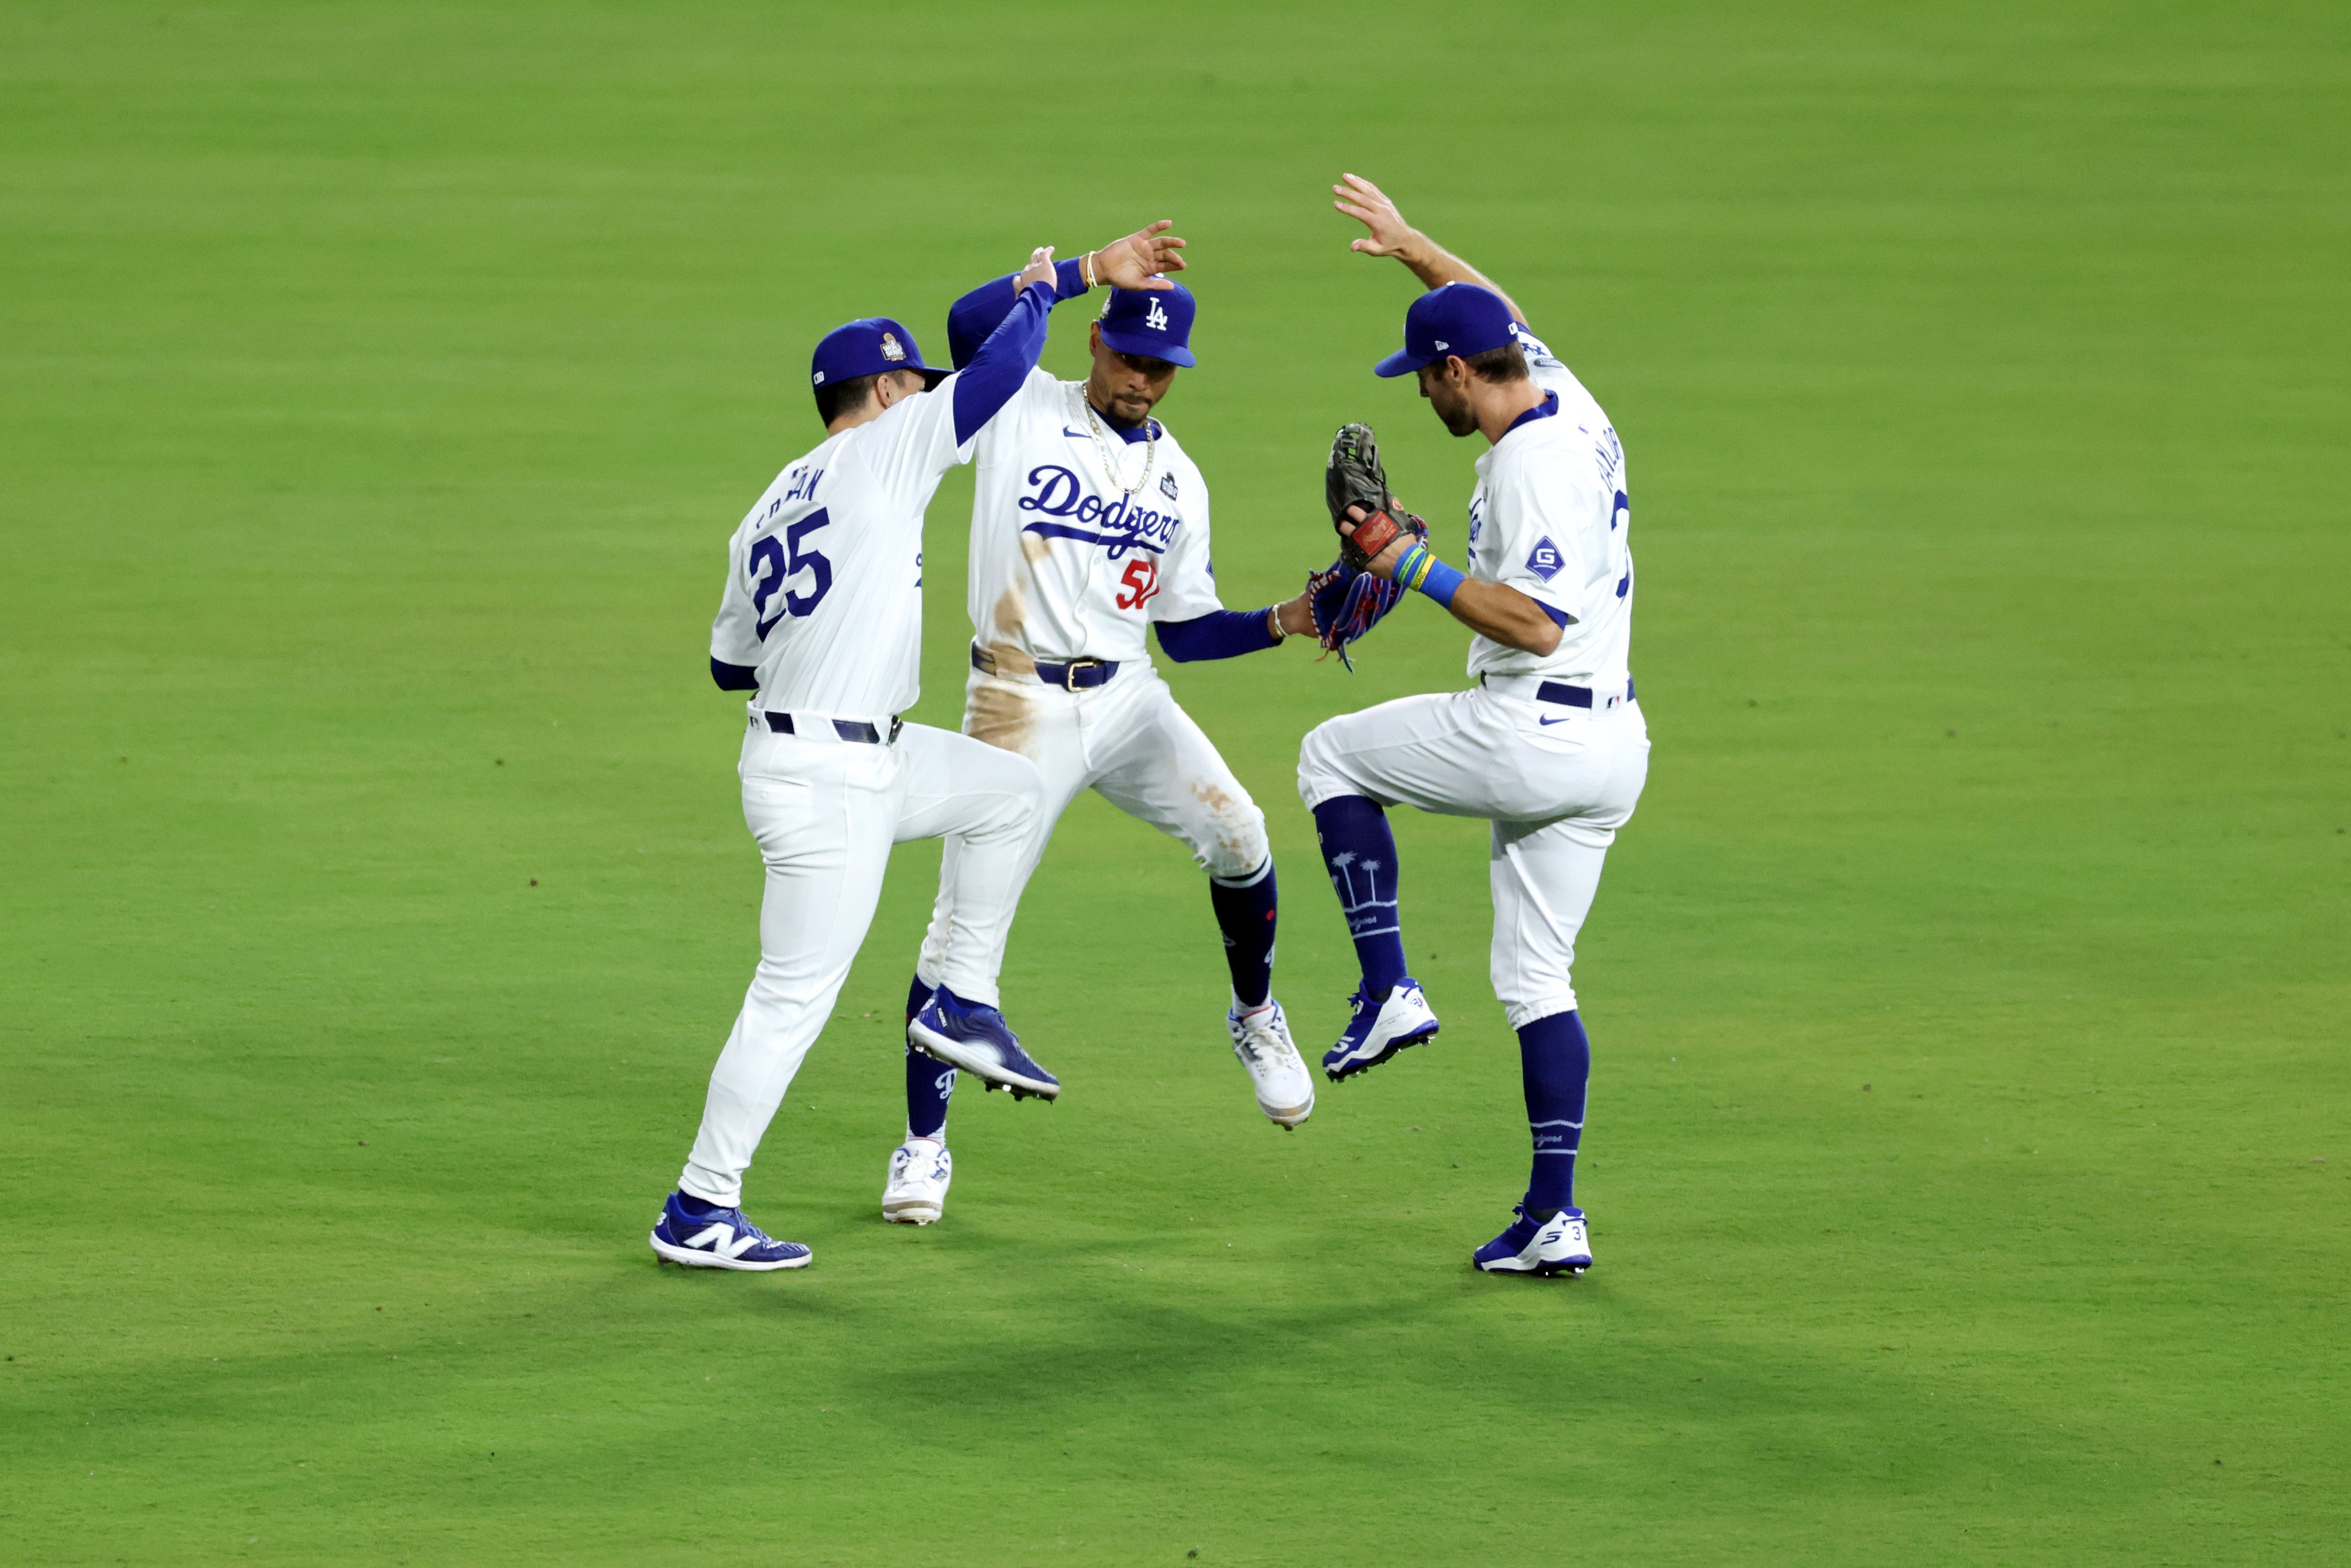
{"label": "white pants of the player wearing number 25", "polygon": [[[677,1178],[729,1208],[741,1204],[743,1173],[783,1091],[832,1018],[882,898],[891,844],[955,835],[964,853],[940,889],[952,933],[943,950],[1002,952],[1044,795],[1020,757],[924,724],[907,724],[891,745],[863,745],[776,736],[755,715],[741,773],[743,820],[766,860],[759,969],[710,1072],[703,1128]],[[994,969],[957,961],[945,978],[959,997],[997,1006]]]}

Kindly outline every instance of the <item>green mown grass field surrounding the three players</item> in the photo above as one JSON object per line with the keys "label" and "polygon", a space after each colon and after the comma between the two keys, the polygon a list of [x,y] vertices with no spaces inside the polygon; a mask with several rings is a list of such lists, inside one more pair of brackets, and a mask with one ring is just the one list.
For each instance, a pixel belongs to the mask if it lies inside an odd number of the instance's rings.
{"label": "green mown grass field surrounding the three players", "polygon": [[[2342,1554],[2346,153],[2320,5],[7,7],[0,1561]],[[1599,1267],[1467,1269],[1481,825],[1399,820],[1444,1041],[1281,1135],[1199,875],[1089,799],[1006,973],[1063,1103],[966,1091],[882,1225],[910,846],[750,1178],[816,1267],[656,1269],[755,957],[708,618],[811,341],[1173,216],[1227,604],[1328,557],[1342,418],[1458,557],[1340,169],[1632,454]],[[1462,646],[1171,672],[1310,1048],[1298,738]]]}

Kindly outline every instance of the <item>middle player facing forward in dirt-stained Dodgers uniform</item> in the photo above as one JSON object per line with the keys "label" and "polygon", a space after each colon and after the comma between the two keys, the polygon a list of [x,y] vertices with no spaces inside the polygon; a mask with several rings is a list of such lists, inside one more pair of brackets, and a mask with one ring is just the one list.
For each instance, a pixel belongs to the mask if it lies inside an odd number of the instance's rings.
{"label": "middle player facing forward in dirt-stained Dodgers uniform", "polygon": [[[1060,263],[1063,296],[1103,282],[1098,259]],[[1119,280],[1114,280],[1119,282]],[[1013,303],[999,277],[955,303],[957,364]],[[964,733],[1018,752],[1044,773],[1020,882],[1081,790],[1183,842],[1208,872],[1225,933],[1232,1004],[1225,1027],[1258,1107],[1293,1128],[1314,1110],[1314,1079],[1272,992],[1274,863],[1265,813],[1152,668],[1145,628],[1168,658],[1232,658],[1312,630],[1302,599],[1227,611],[1208,559],[1208,484],[1152,416],[1194,362],[1194,301],[1183,287],[1114,287],[1089,329],[1084,381],[1030,371],[976,447],[971,508],[971,675]],[[929,1225],[952,1178],[945,1145],[955,1074],[933,1056],[969,1001],[959,969],[994,976],[1004,929],[957,926],[950,889],[969,839],[947,839],[938,910],[907,992],[907,1126],[889,1159],[882,1213]],[[985,950],[971,943],[985,940]]]}

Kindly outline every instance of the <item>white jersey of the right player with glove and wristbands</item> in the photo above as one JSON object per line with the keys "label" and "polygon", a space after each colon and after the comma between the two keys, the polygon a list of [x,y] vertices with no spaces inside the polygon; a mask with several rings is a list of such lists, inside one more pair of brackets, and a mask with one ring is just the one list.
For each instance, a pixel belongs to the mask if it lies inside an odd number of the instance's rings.
{"label": "white jersey of the right player with glove and wristbands", "polygon": [[1625,444],[1585,383],[1523,327],[1535,386],[1559,397],[1476,461],[1469,496],[1469,576],[1509,583],[1573,616],[1549,654],[1491,637],[1469,642],[1469,675],[1552,675],[1606,684],[1632,661],[1632,496]]}

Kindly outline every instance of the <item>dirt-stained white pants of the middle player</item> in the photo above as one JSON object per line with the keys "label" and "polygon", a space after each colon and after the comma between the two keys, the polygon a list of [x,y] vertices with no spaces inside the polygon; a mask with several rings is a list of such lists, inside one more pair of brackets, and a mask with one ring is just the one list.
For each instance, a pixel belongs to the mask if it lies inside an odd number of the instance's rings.
{"label": "dirt-stained white pants of the middle player", "polygon": [[[1180,839],[1211,877],[1244,882],[1272,853],[1265,811],[1150,663],[1121,663],[1107,684],[1089,691],[1046,686],[1034,675],[973,670],[964,686],[964,733],[1020,752],[1044,776],[1044,804],[1030,823],[1016,896],[1044,858],[1060,813],[1084,790],[1098,790],[1126,816]],[[969,992],[955,973],[985,971],[994,985],[1009,936],[999,926],[983,938],[976,924],[952,919],[955,889],[966,879],[962,863],[973,849],[966,839],[947,839],[938,905],[915,966],[926,985],[945,983],[959,997]],[[973,950],[976,940],[990,945]]]}

